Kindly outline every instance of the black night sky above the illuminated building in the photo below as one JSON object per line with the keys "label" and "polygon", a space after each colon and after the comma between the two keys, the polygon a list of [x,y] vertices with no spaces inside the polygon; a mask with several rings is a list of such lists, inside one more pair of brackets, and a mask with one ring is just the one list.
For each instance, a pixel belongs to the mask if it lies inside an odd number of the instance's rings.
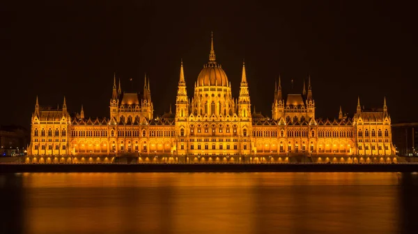
{"label": "black night sky above the illuminated building", "polygon": [[[150,76],[155,114],[176,101],[180,58],[192,97],[217,62],[238,97],[245,58],[251,104],[271,115],[274,81],[302,92],[311,75],[317,117],[353,115],[387,97],[392,122],[418,121],[417,18],[398,1],[9,1],[1,3],[0,124],[30,124],[40,105],[108,117],[114,72],[123,90]],[[133,78],[133,85],[129,78]]]}

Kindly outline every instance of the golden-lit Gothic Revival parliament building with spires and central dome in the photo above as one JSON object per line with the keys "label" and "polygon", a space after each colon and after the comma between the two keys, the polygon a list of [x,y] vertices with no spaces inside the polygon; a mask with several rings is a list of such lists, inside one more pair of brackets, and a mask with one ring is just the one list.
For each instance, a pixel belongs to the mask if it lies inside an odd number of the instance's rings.
{"label": "golden-lit Gothic Revival parliament building with spires and central dome", "polygon": [[[272,117],[251,112],[245,65],[238,99],[216,62],[213,40],[189,99],[183,62],[175,112],[156,117],[149,80],[141,93],[122,92],[114,77],[109,118],[70,116],[62,108],[42,108],[36,99],[28,155],[33,162],[111,162],[132,156],[137,162],[393,162],[391,119],[386,101],[379,110],[347,117],[315,116],[311,79],[302,94],[282,95],[275,85]],[[119,157],[121,158],[121,157]]]}

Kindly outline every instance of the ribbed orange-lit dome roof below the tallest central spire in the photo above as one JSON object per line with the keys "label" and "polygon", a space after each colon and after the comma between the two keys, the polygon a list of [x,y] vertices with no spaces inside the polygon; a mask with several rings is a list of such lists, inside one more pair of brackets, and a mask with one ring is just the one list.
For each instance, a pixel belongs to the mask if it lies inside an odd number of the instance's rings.
{"label": "ribbed orange-lit dome roof below the tallest central spire", "polygon": [[228,86],[228,78],[221,65],[208,63],[197,76],[197,86]]}

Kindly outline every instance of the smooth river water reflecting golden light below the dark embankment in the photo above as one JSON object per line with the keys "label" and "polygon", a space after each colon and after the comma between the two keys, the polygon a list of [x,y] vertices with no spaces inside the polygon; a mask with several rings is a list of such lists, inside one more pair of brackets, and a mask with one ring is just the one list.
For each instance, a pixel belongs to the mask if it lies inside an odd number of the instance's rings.
{"label": "smooth river water reflecting golden light below the dark embankment", "polygon": [[417,233],[418,175],[0,174],[0,233]]}

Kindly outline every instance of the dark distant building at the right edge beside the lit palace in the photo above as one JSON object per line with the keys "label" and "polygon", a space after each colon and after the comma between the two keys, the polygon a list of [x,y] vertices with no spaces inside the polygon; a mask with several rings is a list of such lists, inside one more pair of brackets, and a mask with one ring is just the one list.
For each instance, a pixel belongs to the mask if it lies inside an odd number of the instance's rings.
{"label": "dark distant building at the right edge beside the lit palace", "polygon": [[398,156],[418,156],[418,123],[392,124],[392,136]]}

